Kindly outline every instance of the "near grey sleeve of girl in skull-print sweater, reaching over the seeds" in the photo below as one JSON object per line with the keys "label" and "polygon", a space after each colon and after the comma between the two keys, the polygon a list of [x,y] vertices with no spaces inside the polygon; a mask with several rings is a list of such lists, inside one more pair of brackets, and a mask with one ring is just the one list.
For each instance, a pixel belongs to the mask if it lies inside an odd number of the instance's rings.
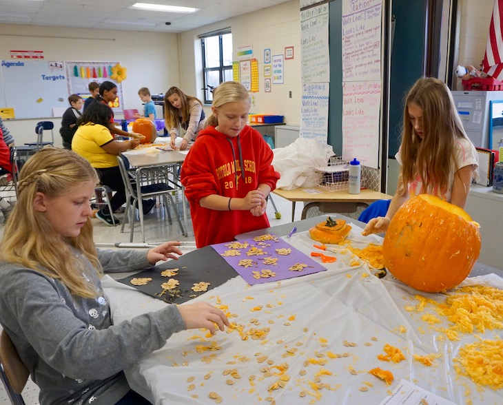
{"label": "near grey sleeve of girl in skull-print sweater, reaching over the seeds", "polygon": [[14,336],[25,338],[45,363],[67,377],[103,380],[186,329],[176,305],[105,329],[90,328],[74,312],[85,313],[83,309],[96,307],[96,300],[65,295],[61,284],[31,269],[17,268],[3,276],[8,280],[2,280],[2,287],[13,292],[0,295],[2,324]]}

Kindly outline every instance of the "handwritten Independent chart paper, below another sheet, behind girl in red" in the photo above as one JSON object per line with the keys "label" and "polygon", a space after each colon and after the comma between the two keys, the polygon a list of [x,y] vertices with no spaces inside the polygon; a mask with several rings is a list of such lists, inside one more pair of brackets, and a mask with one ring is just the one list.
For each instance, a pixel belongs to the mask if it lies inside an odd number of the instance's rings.
{"label": "handwritten Independent chart paper, below another sheet, behind girl in red", "polygon": [[327,143],[330,83],[303,83],[300,138]]}

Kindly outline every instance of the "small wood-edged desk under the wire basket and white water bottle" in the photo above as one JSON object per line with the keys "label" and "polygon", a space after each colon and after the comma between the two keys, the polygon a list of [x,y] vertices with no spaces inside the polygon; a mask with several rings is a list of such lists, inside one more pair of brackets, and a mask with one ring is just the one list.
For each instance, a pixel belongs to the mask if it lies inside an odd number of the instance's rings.
{"label": "small wood-edged desk under the wire basket and white water bottle", "polygon": [[374,201],[389,200],[393,197],[370,189],[362,189],[360,194],[349,194],[348,191],[325,191],[316,187],[293,190],[276,189],[273,193],[291,201],[291,222],[294,222],[297,201],[307,203],[300,216],[300,219],[305,219],[311,207],[318,207],[321,212],[354,212],[358,207],[367,207]]}

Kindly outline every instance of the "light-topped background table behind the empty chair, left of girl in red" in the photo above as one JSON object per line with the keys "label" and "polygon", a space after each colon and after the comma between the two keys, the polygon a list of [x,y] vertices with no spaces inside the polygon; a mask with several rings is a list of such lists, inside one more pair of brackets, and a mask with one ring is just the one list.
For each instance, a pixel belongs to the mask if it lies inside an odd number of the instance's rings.
{"label": "light-topped background table behind the empty chair, left of girl in red", "polygon": [[[166,167],[167,169],[171,167],[173,171],[173,182],[178,185],[178,169],[185,160],[185,156],[187,156],[187,151],[163,151],[160,149],[156,149],[155,146],[141,148],[141,149],[130,149],[126,152],[123,152],[123,155],[127,157],[130,165],[135,168],[135,174],[138,176],[138,171],[141,171],[145,168],[154,168],[154,167]],[[138,185],[139,187],[139,185]],[[185,188],[183,185],[181,187],[181,202],[183,207],[183,228],[185,230],[185,236],[187,236],[187,207],[185,205]],[[178,207],[176,208],[178,209]],[[141,221],[143,221],[143,215],[140,216]],[[132,226],[132,225],[131,225]],[[142,225],[143,229],[143,225]],[[143,238],[145,236],[143,235]],[[143,240],[145,242],[145,240]]]}

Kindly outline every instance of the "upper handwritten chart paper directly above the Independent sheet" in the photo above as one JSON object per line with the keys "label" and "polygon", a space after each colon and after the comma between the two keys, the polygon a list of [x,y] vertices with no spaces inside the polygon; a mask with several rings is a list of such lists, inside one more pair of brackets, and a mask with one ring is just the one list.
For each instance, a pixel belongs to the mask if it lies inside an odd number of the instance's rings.
{"label": "upper handwritten chart paper directly above the Independent sheet", "polygon": [[330,81],[329,3],[300,12],[302,83]]}

